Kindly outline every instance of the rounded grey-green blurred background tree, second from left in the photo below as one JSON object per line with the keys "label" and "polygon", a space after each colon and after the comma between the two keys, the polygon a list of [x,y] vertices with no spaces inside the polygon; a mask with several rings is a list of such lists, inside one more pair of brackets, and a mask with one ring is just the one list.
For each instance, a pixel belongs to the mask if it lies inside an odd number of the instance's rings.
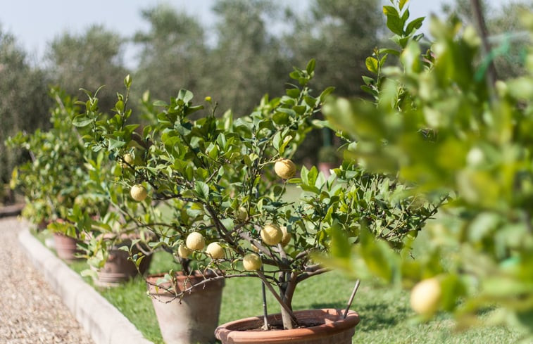
{"label": "rounded grey-green blurred background tree, second from left", "polygon": [[101,108],[115,104],[115,90],[127,74],[123,63],[125,39],[101,25],[80,35],[65,32],[49,45],[45,59],[51,80],[67,94],[81,97],[80,88],[100,91]]}

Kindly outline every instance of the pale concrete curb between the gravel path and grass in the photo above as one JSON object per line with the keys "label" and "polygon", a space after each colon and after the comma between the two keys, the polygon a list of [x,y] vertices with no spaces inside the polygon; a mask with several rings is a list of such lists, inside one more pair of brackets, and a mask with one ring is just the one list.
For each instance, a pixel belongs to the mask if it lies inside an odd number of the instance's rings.
{"label": "pale concrete curb between the gravel path and grass", "polygon": [[45,248],[28,229],[20,232],[18,241],[32,264],[44,274],[44,279],[63,299],[94,343],[153,344],[92,286]]}

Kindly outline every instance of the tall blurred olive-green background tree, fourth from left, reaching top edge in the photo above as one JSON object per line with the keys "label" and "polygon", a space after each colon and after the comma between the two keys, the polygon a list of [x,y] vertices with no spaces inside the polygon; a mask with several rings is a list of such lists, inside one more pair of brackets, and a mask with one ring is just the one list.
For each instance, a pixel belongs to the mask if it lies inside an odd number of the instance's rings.
{"label": "tall blurred olive-green background tree, fourth from left, reaching top edge", "polygon": [[[280,19],[271,1],[220,0],[216,44],[208,57],[202,89],[237,117],[263,94],[280,94],[291,65],[282,60],[272,26]],[[280,80],[282,82],[280,82]]]}

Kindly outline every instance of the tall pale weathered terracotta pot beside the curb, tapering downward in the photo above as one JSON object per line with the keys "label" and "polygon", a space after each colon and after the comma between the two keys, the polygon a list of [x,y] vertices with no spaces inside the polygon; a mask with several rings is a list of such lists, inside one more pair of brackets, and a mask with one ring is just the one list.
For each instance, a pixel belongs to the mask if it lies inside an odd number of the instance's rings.
{"label": "tall pale weathered terracotta pot beside the curb, tapering downward", "polygon": [[[215,340],[213,332],[218,325],[220,302],[224,280],[210,281],[198,286],[191,293],[186,293],[180,300],[156,284],[163,274],[148,276],[148,290],[152,296],[153,308],[161,329],[161,335],[166,344],[196,344],[212,343]],[[192,276],[177,273],[177,288],[182,291],[198,284],[204,277],[195,272]],[[170,284],[161,284],[168,288]],[[172,300],[172,301],[171,301]],[[168,303],[165,303],[168,302]]]}

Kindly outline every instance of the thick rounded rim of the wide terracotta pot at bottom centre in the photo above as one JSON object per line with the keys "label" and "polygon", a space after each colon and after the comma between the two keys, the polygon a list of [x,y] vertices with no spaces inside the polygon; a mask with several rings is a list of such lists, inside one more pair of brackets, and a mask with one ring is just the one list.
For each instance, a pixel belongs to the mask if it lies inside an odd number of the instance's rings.
{"label": "thick rounded rim of the wide terracotta pot at bottom centre", "polygon": [[[315,317],[316,319],[325,319],[324,324],[317,326],[303,327],[299,329],[291,330],[279,330],[279,331],[246,331],[238,330],[235,328],[245,327],[246,324],[261,324],[263,317],[249,317],[244,319],[238,319],[230,321],[226,324],[218,326],[215,330],[215,336],[227,343],[249,343],[253,337],[261,340],[265,340],[269,343],[286,343],[287,338],[294,340],[301,340],[306,337],[328,336],[333,333],[339,333],[347,329],[355,327],[359,323],[359,314],[353,310],[349,310],[346,318],[343,319],[344,310],[337,310],[334,308],[322,308],[317,310],[300,310],[294,312],[297,319],[299,316],[303,316],[304,319],[310,319]],[[281,319],[281,314],[270,314],[268,316],[269,321],[273,319]]]}

